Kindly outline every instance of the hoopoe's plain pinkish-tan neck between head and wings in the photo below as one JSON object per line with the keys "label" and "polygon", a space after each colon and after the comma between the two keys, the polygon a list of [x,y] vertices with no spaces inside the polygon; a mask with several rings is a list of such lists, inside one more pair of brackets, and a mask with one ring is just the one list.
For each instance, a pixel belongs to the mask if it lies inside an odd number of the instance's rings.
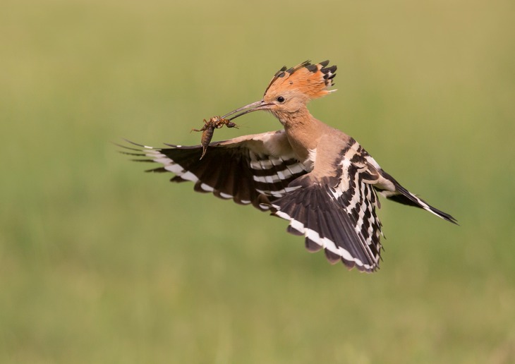
{"label": "hoopoe's plain pinkish-tan neck between head and wings", "polygon": [[325,124],[315,119],[305,107],[294,113],[281,113],[276,116],[284,125],[293,152],[299,160],[306,161],[310,157],[310,151],[316,150]]}

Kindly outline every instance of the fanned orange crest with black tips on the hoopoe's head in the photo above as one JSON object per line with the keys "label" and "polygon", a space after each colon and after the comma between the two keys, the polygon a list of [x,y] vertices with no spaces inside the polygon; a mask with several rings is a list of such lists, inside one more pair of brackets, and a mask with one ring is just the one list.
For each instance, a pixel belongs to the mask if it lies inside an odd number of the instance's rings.
{"label": "fanned orange crest with black tips on the hoopoe's head", "polygon": [[328,87],[334,85],[332,79],[336,75],[337,66],[327,67],[329,61],[311,64],[304,61],[295,67],[281,68],[270,81],[265,95],[268,91],[276,90],[298,90],[303,92],[310,99],[317,99],[327,95]]}

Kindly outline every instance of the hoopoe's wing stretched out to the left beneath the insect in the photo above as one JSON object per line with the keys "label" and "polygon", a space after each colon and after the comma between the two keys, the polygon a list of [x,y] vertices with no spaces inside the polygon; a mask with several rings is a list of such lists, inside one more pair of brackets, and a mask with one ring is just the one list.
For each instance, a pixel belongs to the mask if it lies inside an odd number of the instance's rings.
{"label": "hoopoe's wing stretched out to the left beneath the insect", "polygon": [[135,161],[162,164],[148,171],[171,172],[175,174],[172,182],[192,181],[198,192],[243,205],[252,203],[260,210],[269,209],[260,204],[260,195],[280,198],[292,190],[291,181],[308,173],[294,157],[284,131],[212,142],[202,160],[201,145],[154,148],[131,144],[136,147],[122,147],[132,150],[126,154],[143,157]]}

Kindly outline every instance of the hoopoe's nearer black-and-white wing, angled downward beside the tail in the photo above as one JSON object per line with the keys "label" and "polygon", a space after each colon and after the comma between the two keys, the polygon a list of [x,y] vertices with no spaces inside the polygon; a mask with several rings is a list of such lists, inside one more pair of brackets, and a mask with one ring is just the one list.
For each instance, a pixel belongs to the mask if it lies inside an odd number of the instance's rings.
{"label": "hoopoe's nearer black-and-white wing, angled downward beside the tail", "polygon": [[375,211],[379,201],[372,186],[379,175],[361,151],[359,145],[350,145],[340,154],[336,177],[298,178],[292,185],[301,188],[271,205],[272,214],[289,220],[290,233],[305,236],[308,250],[323,248],[329,262],[341,260],[349,268],[374,272],[382,250]]}

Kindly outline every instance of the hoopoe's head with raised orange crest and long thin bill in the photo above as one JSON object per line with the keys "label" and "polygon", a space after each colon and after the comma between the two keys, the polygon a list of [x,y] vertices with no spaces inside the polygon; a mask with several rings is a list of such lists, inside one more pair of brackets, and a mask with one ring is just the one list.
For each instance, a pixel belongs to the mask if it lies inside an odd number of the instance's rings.
{"label": "hoopoe's head with raised orange crest and long thin bill", "polygon": [[239,113],[232,116],[232,120],[252,111],[268,110],[280,121],[289,119],[289,115],[304,109],[310,100],[335,91],[328,88],[333,85],[337,66],[327,67],[328,64],[329,61],[316,64],[305,61],[288,69],[284,66],[274,75],[260,101],[231,111],[224,118]]}

